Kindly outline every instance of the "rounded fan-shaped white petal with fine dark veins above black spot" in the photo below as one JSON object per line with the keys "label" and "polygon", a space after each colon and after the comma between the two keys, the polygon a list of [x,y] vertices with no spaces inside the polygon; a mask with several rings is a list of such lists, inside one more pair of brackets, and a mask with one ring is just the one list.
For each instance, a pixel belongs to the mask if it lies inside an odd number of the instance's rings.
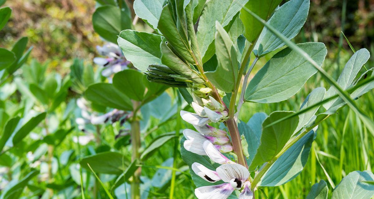
{"label": "rounded fan-shaped white petal with fine dark veins above black spot", "polygon": [[226,183],[235,178],[241,181],[245,181],[249,177],[248,169],[240,164],[221,165],[217,168],[217,173]]}

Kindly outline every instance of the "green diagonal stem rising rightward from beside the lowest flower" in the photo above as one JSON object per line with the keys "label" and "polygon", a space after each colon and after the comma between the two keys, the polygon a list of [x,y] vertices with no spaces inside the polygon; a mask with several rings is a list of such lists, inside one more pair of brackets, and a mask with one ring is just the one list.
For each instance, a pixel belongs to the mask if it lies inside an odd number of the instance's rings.
{"label": "green diagonal stem rising rightward from beside the lowest flower", "polygon": [[283,149],[269,162],[267,162],[263,168],[261,168],[260,172],[255,176],[251,183],[251,190],[254,190],[258,182],[260,182],[261,178],[264,176],[267,170],[274,164],[274,162],[281,156],[283,153],[286,152],[292,145],[294,145],[297,141],[299,141],[302,137],[304,137],[310,130],[312,130],[314,127],[316,127],[318,124],[320,124],[322,121],[327,119],[330,115],[326,115],[325,118],[321,119],[320,122],[312,125],[311,127],[306,128],[303,132],[298,134],[294,139],[291,140],[291,142],[288,142],[286,146],[283,147]]}

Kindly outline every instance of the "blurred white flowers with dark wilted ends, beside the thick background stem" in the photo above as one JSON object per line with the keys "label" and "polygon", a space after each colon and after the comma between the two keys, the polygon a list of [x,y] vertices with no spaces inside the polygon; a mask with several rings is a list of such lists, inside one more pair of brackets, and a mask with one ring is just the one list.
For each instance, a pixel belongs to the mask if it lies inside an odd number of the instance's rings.
{"label": "blurred white flowers with dark wilted ends, beside the thick background stem", "polygon": [[77,105],[81,109],[82,117],[76,118],[75,122],[78,124],[78,128],[82,131],[84,131],[86,124],[96,125],[104,124],[107,121],[111,121],[111,123],[120,121],[122,125],[127,119],[127,113],[118,109],[113,109],[103,115],[97,115],[92,111],[89,107],[89,102],[84,98],[77,99]]}

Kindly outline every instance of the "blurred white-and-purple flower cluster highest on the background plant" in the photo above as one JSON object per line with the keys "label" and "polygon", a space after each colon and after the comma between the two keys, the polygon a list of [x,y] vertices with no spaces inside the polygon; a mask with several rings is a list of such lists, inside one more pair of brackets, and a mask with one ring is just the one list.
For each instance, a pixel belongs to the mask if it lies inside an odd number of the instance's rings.
{"label": "blurred white-and-purple flower cluster highest on the background plant", "polygon": [[99,66],[104,67],[101,71],[101,75],[107,77],[111,82],[111,76],[117,72],[123,71],[127,68],[130,63],[123,56],[121,49],[118,45],[113,43],[106,43],[104,46],[96,46],[97,51],[104,57],[95,57],[93,62]]}

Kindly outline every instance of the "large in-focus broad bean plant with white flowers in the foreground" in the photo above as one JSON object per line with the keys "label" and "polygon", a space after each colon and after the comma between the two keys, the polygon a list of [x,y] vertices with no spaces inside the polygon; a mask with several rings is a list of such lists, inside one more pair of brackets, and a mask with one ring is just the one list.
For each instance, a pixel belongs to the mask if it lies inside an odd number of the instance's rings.
{"label": "large in-focus broad bean plant with white flowers in the foreground", "polygon": [[[292,180],[306,164],[318,125],[343,106],[374,134],[373,121],[354,102],[374,87],[372,68],[358,75],[370,57],[368,50],[356,51],[334,80],[322,67],[324,43],[291,41],[306,22],[310,1],[280,3],[135,0],[135,14],[153,33],[125,29],[119,34],[126,59],[151,83],[178,88],[194,110],[180,111],[194,127],[183,130],[181,156],[199,199],[252,199],[261,187]],[[265,55],[271,58],[251,77]],[[287,100],[316,73],[331,87],[315,88],[297,112],[260,112],[247,123],[238,119],[243,103]],[[121,81],[125,78],[130,79],[123,76]],[[126,90],[134,87],[126,85]],[[316,115],[320,109],[325,111]],[[369,199],[373,178],[371,171],[352,172],[332,198]],[[327,189],[321,181],[307,198],[327,198]]]}

